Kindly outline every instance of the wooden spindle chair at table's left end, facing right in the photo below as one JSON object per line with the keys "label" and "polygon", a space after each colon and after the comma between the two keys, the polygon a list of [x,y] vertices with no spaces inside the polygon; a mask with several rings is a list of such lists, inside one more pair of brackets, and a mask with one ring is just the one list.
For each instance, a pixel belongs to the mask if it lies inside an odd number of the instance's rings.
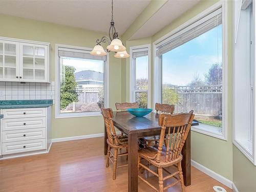
{"label": "wooden spindle chair at table's left end, facing right", "polygon": [[[112,121],[113,118],[113,111],[112,109],[104,109],[101,108],[101,112],[103,115],[105,127],[106,127],[106,134],[108,135],[108,139],[106,142],[108,143],[108,155],[106,159],[106,167],[109,167],[109,160],[114,164],[114,170],[113,170],[113,180],[116,179],[116,168],[127,166],[126,165],[121,165],[117,166],[117,158],[121,156],[128,156],[127,153],[127,147],[128,147],[128,139],[126,136],[119,136],[117,137],[115,127]],[[111,149],[114,149],[114,154],[111,152]],[[118,150],[125,148],[126,152],[125,153],[120,153],[118,154]],[[110,156],[110,154],[112,156]],[[111,159],[113,158],[113,160]]]}

